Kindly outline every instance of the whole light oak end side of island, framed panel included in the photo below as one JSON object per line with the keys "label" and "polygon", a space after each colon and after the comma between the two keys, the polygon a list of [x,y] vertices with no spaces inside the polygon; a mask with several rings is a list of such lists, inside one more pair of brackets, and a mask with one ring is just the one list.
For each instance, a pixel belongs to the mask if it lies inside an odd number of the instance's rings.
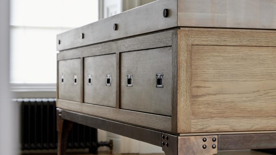
{"label": "whole light oak end side of island, framed panel included", "polygon": [[[178,133],[275,130],[275,33],[178,31]],[[185,66],[191,89],[179,83]]]}

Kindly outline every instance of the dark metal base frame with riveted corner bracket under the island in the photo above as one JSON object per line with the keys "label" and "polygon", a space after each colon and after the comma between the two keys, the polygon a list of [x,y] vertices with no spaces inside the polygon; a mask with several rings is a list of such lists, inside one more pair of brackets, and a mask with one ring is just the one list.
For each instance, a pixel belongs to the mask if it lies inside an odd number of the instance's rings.
{"label": "dark metal base frame with riveted corner bracket under the island", "polygon": [[[276,133],[179,136],[177,133],[176,135],[163,133],[59,108],[57,108],[57,115],[60,120],[77,122],[160,146],[166,155],[213,155],[217,154],[218,150],[276,148]],[[65,129],[65,126],[62,127],[59,122],[57,120],[60,133],[62,133],[62,129],[67,131],[68,129]],[[66,139],[66,135],[58,138],[60,142]],[[59,155],[65,154],[66,148],[64,147],[66,146],[59,145],[58,149],[62,150],[59,151]]]}

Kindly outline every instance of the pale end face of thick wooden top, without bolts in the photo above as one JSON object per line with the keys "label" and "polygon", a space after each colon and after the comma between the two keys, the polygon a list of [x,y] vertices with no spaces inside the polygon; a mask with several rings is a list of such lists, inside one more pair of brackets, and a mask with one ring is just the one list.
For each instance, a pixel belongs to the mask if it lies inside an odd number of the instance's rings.
{"label": "pale end face of thick wooden top, without bolts", "polygon": [[178,26],[276,29],[275,0],[178,0]]}

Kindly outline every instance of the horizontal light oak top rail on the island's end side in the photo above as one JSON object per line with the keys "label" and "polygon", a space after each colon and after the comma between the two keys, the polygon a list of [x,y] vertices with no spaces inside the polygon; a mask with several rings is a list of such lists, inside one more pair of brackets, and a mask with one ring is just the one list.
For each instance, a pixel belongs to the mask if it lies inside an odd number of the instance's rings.
{"label": "horizontal light oak top rail on the island's end side", "polygon": [[276,46],[276,31],[224,29],[190,31],[192,45]]}

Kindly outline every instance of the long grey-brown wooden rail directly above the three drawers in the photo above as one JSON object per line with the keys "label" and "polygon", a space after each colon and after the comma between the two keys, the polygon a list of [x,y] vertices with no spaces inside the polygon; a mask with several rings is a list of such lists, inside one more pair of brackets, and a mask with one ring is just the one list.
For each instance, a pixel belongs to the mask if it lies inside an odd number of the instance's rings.
{"label": "long grey-brown wooden rail directly above the three drawers", "polygon": [[58,60],[172,46],[172,31],[60,51]]}

